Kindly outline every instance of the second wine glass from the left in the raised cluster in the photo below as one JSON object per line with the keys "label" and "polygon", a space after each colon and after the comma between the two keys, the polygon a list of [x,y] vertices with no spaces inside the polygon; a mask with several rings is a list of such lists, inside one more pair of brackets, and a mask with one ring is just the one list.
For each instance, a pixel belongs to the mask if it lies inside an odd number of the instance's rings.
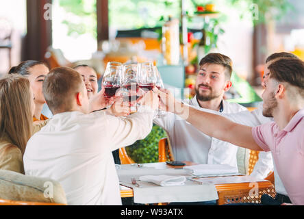
{"label": "second wine glass from the left in the raised cluster", "polygon": [[140,64],[131,63],[123,65],[123,83],[122,96],[125,102],[129,102],[131,112],[136,112],[137,107],[132,106],[131,103],[136,101],[138,96],[138,73],[140,72]]}

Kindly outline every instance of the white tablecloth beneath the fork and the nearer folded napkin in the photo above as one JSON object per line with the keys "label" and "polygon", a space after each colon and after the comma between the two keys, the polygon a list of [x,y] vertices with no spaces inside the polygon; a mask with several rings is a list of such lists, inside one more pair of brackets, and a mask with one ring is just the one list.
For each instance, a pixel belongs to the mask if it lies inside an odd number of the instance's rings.
{"label": "white tablecloth beneath the fork and the nearer folded napkin", "polygon": [[[162,164],[160,164],[162,166]],[[218,199],[218,193],[215,185],[212,183],[203,183],[187,180],[185,185],[179,186],[160,186],[154,183],[147,183],[138,180],[144,175],[173,175],[194,177],[191,171],[183,169],[162,169],[143,166],[121,165],[121,169],[116,170],[121,185],[133,188],[134,203],[175,203],[175,202],[199,202],[212,201]],[[140,188],[131,184],[131,178],[135,178]]]}

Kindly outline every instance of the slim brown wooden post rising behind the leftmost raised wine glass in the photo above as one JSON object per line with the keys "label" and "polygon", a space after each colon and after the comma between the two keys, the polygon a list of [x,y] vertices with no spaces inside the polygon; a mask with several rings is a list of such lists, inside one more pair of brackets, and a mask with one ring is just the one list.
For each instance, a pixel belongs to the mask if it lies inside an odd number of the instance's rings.
{"label": "slim brown wooden post rising behind the leftmost raised wine glass", "polygon": [[97,0],[97,40],[109,39],[109,4],[108,0]]}

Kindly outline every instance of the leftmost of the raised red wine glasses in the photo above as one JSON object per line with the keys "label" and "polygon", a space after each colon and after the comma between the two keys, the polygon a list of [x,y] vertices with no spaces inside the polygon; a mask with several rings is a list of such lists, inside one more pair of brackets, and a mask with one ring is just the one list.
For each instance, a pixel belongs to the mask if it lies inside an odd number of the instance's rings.
{"label": "leftmost of the raised red wine glasses", "polygon": [[108,62],[103,75],[106,98],[110,99],[115,96],[116,91],[121,88],[122,79],[122,64],[120,62]]}

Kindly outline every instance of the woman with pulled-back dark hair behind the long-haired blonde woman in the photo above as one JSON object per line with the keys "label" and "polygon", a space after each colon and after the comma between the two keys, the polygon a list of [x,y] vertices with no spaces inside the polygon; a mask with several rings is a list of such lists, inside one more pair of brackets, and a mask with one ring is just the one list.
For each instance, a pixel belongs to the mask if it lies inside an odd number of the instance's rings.
{"label": "woman with pulled-back dark hair behind the long-haired blonde woman", "polygon": [[25,61],[18,66],[12,67],[9,74],[23,75],[29,79],[29,83],[34,92],[34,121],[47,120],[47,116],[41,114],[45,102],[45,96],[42,93],[42,83],[49,73],[49,67],[44,62],[40,61]]}

